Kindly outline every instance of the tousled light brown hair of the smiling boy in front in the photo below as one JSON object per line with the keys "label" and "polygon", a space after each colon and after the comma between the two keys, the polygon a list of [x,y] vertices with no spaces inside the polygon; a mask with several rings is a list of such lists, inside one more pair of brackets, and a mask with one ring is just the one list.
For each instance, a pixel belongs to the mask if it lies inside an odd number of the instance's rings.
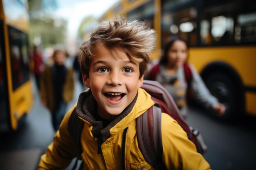
{"label": "tousled light brown hair of the smiling boy in front", "polygon": [[89,77],[92,57],[96,56],[99,44],[110,49],[115,57],[118,57],[117,51],[122,50],[130,61],[139,61],[139,78],[141,78],[148,68],[149,53],[155,48],[155,31],[148,28],[144,22],[138,20],[128,22],[120,16],[102,22],[79,48],[80,69],[87,77]]}

